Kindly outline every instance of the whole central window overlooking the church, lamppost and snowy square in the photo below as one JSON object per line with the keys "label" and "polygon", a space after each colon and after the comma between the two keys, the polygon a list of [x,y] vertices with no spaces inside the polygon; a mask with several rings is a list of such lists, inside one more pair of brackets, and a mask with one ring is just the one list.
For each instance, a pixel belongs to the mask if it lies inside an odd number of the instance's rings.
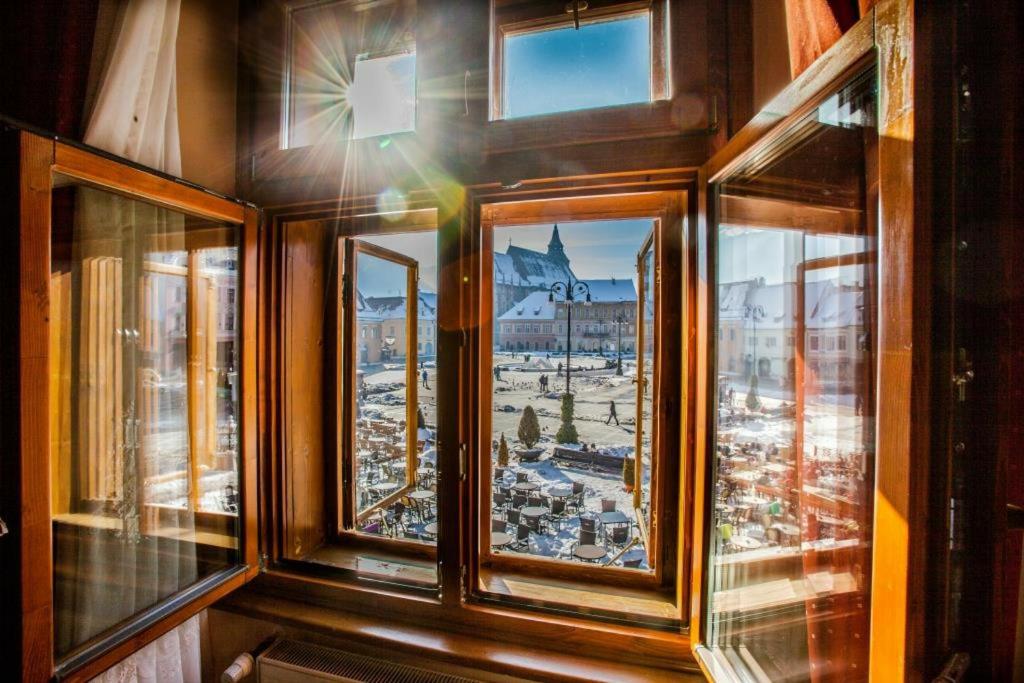
{"label": "whole central window overlooking the church, lamppost and snowy square", "polygon": [[[616,203],[629,205],[631,199],[575,200],[578,204],[569,205],[608,207],[610,213]],[[646,200],[655,202],[654,197]],[[663,196],[657,200],[670,201]],[[481,386],[479,411],[480,588],[502,599],[525,597],[509,588],[514,582],[502,578],[504,571],[514,570],[517,577],[525,572],[579,581],[585,585],[581,591],[590,584],[653,589],[660,582],[671,583],[675,562],[670,549],[678,531],[675,519],[666,521],[660,511],[678,500],[669,490],[677,485],[679,461],[678,451],[668,449],[666,440],[671,424],[658,415],[670,390],[660,383],[658,369],[672,362],[660,354],[662,346],[678,348],[681,343],[678,318],[669,324],[662,314],[669,301],[680,301],[682,283],[674,280],[680,268],[659,266],[665,259],[681,258],[679,223],[660,213],[667,211],[662,204],[648,209],[646,216],[566,218],[557,227],[542,222],[539,209],[527,222],[500,218],[505,211],[529,216],[530,206],[484,205],[483,240],[514,244],[507,253],[520,262],[544,264],[544,282],[535,279],[536,290],[521,293],[516,305],[551,318],[564,313],[566,323],[558,326],[555,348],[571,352],[523,362],[495,350],[481,358],[481,378],[494,381]],[[505,255],[484,252],[484,268],[490,271],[490,262],[497,263],[499,256]],[[659,282],[658,271],[671,271],[675,286]],[[497,308],[502,285],[486,276],[484,282],[494,284],[482,297],[495,301]],[[593,337],[607,326],[577,322],[598,319],[595,310],[612,303],[635,309],[640,321],[636,339],[630,340],[640,351],[623,357],[621,374],[602,372],[609,368],[602,353],[610,347],[605,349],[605,342]],[[481,343],[480,348],[495,347]],[[538,372],[548,382],[547,392],[542,385],[540,395]],[[572,606],[585,598],[566,593],[560,599]],[[678,620],[678,604],[666,601],[664,594],[642,604],[629,618]]]}

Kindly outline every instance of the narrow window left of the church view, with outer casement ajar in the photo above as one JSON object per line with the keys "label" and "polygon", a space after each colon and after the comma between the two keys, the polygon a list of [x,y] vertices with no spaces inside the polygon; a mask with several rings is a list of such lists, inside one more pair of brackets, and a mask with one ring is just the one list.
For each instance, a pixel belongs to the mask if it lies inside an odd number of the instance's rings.
{"label": "narrow window left of the church view, with outer casement ajar", "polygon": [[283,224],[282,438],[303,454],[284,477],[286,559],[436,584],[439,380],[419,334],[438,298],[434,225],[433,209]]}

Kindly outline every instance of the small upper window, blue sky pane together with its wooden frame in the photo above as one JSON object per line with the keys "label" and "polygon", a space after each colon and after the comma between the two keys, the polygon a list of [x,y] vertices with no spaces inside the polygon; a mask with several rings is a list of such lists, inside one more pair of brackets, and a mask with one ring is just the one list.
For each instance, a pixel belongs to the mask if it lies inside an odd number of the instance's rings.
{"label": "small upper window, blue sky pane together with its wooden frame", "polygon": [[[649,102],[667,97],[665,8],[614,5],[505,16],[497,10],[494,119]],[[561,6],[559,5],[559,11]]]}

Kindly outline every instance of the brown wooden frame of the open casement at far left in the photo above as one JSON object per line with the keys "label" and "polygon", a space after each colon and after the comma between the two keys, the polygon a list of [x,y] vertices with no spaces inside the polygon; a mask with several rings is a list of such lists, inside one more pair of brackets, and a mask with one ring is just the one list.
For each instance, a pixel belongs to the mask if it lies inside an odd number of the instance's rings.
{"label": "brown wooden frame of the open casement at far left", "polygon": [[[85,145],[17,131],[19,198],[20,671],[25,681],[88,680],[177,627],[258,571],[256,512],[256,232],[258,212]],[[53,175],[239,229],[241,296],[239,407],[240,564],[216,571],[91,639],[60,660],[54,655],[50,506],[49,302]]]}

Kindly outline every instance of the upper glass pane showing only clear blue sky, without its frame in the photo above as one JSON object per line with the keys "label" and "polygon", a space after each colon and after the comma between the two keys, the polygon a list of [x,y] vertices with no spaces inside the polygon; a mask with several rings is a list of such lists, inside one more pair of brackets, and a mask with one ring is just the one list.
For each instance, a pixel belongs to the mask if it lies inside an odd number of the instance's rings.
{"label": "upper glass pane showing only clear blue sky, without its frame", "polygon": [[505,37],[506,119],[651,99],[650,14]]}

